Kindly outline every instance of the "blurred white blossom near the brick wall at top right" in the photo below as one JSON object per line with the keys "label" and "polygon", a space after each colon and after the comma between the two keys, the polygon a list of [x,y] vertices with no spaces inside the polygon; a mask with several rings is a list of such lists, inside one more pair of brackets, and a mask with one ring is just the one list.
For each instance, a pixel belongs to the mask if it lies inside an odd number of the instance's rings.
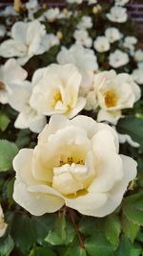
{"label": "blurred white blossom near the brick wall at top right", "polygon": [[109,20],[117,23],[124,23],[128,19],[127,9],[119,6],[112,7],[111,12],[106,15]]}

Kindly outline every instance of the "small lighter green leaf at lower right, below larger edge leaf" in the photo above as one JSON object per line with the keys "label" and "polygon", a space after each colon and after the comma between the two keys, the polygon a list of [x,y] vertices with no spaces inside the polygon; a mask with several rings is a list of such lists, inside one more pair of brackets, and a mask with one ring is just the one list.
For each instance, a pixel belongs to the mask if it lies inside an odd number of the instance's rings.
{"label": "small lighter green leaf at lower right, below larger edge leaf", "polygon": [[133,243],[137,232],[139,230],[139,225],[133,223],[133,221],[129,221],[126,216],[123,216],[122,218],[122,230],[126,237],[128,237],[131,242]]}

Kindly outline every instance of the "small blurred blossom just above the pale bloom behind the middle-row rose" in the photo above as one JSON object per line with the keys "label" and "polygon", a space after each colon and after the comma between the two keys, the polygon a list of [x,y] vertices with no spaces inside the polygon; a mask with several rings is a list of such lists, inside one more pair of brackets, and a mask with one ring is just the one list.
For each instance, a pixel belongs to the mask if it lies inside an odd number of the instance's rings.
{"label": "small blurred blossom just above the pale bloom behind the middle-row rose", "polygon": [[83,45],[88,48],[92,47],[92,37],[90,37],[87,31],[75,30],[73,33],[73,37],[77,44]]}

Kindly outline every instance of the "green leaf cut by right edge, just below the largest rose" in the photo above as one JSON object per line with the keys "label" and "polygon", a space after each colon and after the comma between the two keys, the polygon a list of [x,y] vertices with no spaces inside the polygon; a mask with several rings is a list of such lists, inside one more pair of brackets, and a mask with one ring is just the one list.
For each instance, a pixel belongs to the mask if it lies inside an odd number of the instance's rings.
{"label": "green leaf cut by right edge, just below the largest rose", "polygon": [[124,199],[123,212],[129,221],[143,225],[143,193],[138,193]]}

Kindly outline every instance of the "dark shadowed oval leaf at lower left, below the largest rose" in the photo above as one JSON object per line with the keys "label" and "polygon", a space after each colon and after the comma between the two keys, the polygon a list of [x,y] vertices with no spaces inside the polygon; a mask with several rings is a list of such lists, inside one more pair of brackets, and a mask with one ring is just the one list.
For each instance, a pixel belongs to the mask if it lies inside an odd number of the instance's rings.
{"label": "dark shadowed oval leaf at lower left, below the largest rose", "polygon": [[14,216],[11,227],[11,236],[17,248],[27,255],[32,244],[35,242],[35,234],[31,219],[27,215]]}

